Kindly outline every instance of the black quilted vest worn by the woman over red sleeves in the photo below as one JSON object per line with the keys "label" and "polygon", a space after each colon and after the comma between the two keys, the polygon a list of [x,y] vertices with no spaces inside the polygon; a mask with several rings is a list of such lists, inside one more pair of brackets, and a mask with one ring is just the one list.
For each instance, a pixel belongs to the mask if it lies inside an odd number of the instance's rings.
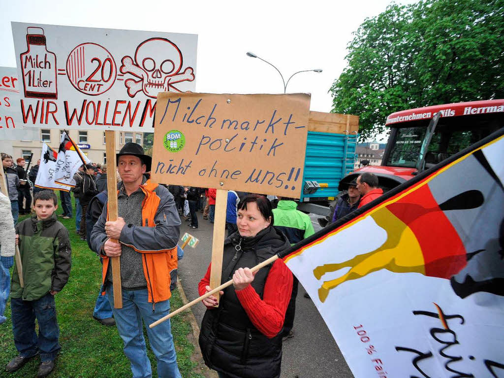
{"label": "black quilted vest worn by the woman over red sleeves", "polygon": [[[239,245],[241,250],[237,250]],[[222,283],[232,279],[236,269],[253,267],[289,248],[284,235],[274,227],[253,238],[236,232],[224,242]],[[270,271],[268,265],[256,274],[251,286],[263,298]],[[200,347],[210,368],[236,378],[274,378],[280,376],[282,332],[268,339],[254,327],[231,285],[224,290],[219,307],[205,312],[201,325]]]}

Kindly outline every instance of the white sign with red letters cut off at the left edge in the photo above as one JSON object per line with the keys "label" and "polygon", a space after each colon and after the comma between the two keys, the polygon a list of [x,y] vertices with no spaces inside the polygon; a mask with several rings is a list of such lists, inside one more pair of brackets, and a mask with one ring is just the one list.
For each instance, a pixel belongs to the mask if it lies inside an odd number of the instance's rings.
{"label": "white sign with red letters cut off at the left edge", "polygon": [[18,73],[14,67],[0,67],[0,140],[40,140],[38,130],[22,125]]}

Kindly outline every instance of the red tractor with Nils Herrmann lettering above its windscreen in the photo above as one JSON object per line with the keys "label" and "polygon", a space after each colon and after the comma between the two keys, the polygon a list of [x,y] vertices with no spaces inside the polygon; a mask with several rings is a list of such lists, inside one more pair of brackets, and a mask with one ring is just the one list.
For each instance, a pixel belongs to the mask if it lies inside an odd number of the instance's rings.
{"label": "red tractor with Nils Herrmann lettering above its windscreen", "polygon": [[504,127],[504,99],[461,102],[401,111],[387,117],[391,128],[380,166],[360,168],[339,183],[364,172],[378,176],[387,191]]}

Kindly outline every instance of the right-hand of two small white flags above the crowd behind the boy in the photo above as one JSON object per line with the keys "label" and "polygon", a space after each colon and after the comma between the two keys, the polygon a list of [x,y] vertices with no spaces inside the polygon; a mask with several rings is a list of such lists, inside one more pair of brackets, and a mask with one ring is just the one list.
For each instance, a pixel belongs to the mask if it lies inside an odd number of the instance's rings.
{"label": "right-hand of two small white flags above the crowd behind the boy", "polygon": [[[54,182],[67,187],[75,187],[74,175],[82,166],[82,161],[90,163],[88,157],[83,154],[77,144],[70,138],[67,132],[61,135],[58,156],[56,160],[56,173]],[[67,188],[68,189],[68,188]]]}

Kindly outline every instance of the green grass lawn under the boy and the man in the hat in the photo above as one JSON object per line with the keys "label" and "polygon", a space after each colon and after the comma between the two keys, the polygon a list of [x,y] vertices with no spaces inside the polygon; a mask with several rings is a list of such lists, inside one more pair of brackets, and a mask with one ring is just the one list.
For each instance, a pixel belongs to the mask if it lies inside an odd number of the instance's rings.
{"label": "green grass lawn under the boy and the man in the hat", "polygon": [[[73,212],[75,217],[75,204]],[[57,213],[61,213],[61,208],[58,208]],[[26,218],[27,216],[20,217],[20,221]],[[59,218],[59,221],[70,233],[72,271],[68,284],[55,297],[61,354],[56,360],[55,370],[49,377],[131,377],[130,363],[122,352],[123,344],[117,329],[102,326],[92,318],[101,283],[100,260],[88,248],[86,241],[80,240],[76,234],[75,218],[69,220]],[[172,293],[170,303],[172,310],[182,306],[177,290]],[[18,354],[12,336],[10,301],[7,303],[5,316],[8,320],[0,326],[0,377],[35,376],[39,364],[38,358],[32,359],[15,373],[5,371],[7,363]],[[195,347],[188,341],[191,325],[186,316],[182,314],[171,319],[178,367],[184,378],[203,377],[204,375],[196,372],[201,372],[202,367],[192,359]],[[147,340],[147,336],[145,338]],[[147,349],[153,369],[152,376],[157,377],[156,359],[150,348]]]}

